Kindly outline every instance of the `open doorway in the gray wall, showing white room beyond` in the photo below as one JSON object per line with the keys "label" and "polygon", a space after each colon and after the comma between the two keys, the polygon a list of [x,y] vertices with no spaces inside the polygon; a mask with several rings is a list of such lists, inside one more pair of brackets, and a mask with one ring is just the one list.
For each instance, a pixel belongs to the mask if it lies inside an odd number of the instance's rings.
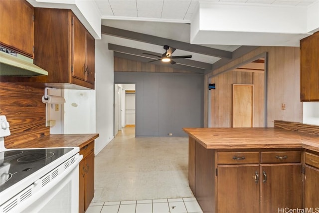
{"label": "open doorway in the gray wall, showing white room beyond", "polygon": [[135,84],[114,84],[114,136],[124,127],[135,127]]}

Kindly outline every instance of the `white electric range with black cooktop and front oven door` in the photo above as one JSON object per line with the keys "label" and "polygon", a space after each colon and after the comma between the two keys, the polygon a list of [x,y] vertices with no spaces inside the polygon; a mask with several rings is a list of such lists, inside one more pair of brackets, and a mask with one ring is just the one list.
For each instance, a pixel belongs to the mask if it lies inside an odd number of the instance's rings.
{"label": "white electric range with black cooktop and front oven door", "polygon": [[79,147],[5,149],[0,116],[0,212],[78,212]]}

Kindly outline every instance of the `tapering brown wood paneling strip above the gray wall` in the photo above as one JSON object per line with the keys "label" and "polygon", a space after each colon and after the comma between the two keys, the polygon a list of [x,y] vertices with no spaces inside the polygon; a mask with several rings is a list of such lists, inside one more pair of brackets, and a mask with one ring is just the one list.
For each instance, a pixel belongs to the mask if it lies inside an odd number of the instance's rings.
{"label": "tapering brown wood paneling strip above the gray wall", "polygon": [[176,72],[194,73],[188,70],[175,69],[168,66],[160,66],[153,63],[144,63],[125,58],[114,57],[114,72]]}

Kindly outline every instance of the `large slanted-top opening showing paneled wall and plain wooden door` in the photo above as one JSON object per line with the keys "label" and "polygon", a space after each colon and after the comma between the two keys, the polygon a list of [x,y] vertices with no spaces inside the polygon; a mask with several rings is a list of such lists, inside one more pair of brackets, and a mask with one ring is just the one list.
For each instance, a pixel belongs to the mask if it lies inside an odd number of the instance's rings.
{"label": "large slanted-top opening showing paneled wall and plain wooden door", "polygon": [[[212,76],[209,83],[215,84],[215,89],[208,93],[208,127],[267,126],[267,53]],[[236,85],[247,87],[247,97],[242,92],[237,94],[238,90],[234,92]],[[247,110],[247,114],[241,115],[241,109]],[[241,116],[247,124],[241,123]]]}

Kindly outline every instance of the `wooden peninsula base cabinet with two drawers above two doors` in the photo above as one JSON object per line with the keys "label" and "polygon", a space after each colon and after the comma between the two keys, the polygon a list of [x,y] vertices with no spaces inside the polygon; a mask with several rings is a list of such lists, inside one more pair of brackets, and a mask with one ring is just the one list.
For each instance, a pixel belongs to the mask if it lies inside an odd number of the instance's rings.
{"label": "wooden peninsula base cabinet with two drawers above two doors", "polygon": [[[204,213],[278,213],[304,207],[302,149],[214,150],[190,137],[188,151],[189,186]],[[308,173],[318,179],[317,169]],[[310,182],[309,197],[316,197],[310,205],[316,206],[319,181]]]}

